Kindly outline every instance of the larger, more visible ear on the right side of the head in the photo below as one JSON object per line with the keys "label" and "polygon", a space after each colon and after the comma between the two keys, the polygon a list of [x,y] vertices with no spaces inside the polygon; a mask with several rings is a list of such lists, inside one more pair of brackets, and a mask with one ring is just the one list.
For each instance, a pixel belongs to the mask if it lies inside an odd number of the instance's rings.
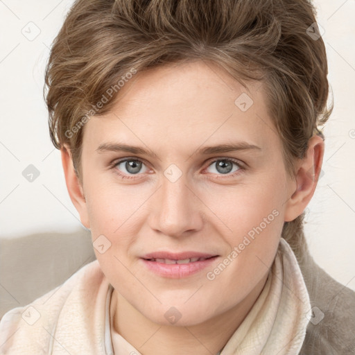
{"label": "larger, more visible ear on the right side of the head", "polygon": [[[315,135],[309,139],[306,156],[297,164],[296,190],[291,190],[291,198],[286,202],[284,221],[294,220],[306,209],[313,197],[322,168],[324,141]],[[295,182],[293,182],[293,190]]]}

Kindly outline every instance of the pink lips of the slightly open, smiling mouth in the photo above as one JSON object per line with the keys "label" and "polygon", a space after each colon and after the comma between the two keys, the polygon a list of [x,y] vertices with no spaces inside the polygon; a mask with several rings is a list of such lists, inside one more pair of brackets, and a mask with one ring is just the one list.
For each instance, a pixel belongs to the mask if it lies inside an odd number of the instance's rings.
{"label": "pink lips of the slightly open, smiling mouth", "polygon": [[210,266],[218,258],[214,254],[183,252],[155,252],[141,258],[150,272],[160,277],[180,279],[194,275]]}

